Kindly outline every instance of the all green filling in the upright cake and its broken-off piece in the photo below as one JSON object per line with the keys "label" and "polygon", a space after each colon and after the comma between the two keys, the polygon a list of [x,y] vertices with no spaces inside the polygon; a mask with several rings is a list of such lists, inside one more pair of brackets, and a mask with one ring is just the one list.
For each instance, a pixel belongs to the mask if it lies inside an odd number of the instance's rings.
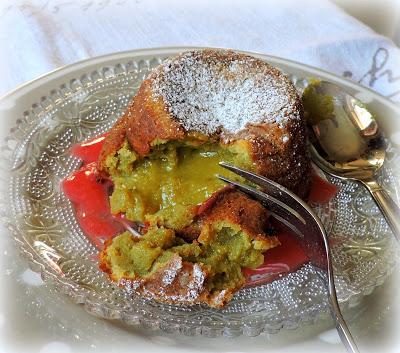
{"label": "all green filling in the upright cake and its broken-off piece", "polygon": [[220,161],[254,169],[246,146],[240,142],[160,141],[142,159],[125,142],[107,158],[114,183],[111,212],[148,225],[142,237],[125,232],[105,248],[103,259],[112,268],[114,280],[151,276],[178,254],[183,261],[206,268],[210,292],[235,290],[244,283],[242,268],[263,263],[267,243],[252,240],[239,225],[223,220],[206,224],[191,243],[175,233],[193,222],[195,206],[224,187],[216,174],[237,179],[218,165]]}

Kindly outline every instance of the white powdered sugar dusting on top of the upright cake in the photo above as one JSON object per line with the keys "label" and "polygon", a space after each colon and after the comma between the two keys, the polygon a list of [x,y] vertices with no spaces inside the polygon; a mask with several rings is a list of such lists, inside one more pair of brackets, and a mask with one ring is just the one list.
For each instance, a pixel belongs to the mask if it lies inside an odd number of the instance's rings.
{"label": "white powdered sugar dusting on top of the upright cake", "polygon": [[231,51],[191,51],[169,59],[151,76],[153,97],[188,131],[231,134],[248,124],[285,126],[300,119],[297,95],[277,69]]}

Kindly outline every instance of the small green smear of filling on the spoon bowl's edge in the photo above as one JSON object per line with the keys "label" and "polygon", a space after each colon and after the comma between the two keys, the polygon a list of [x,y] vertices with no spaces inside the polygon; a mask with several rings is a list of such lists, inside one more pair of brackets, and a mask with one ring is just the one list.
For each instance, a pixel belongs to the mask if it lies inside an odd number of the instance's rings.
{"label": "small green smear of filling on the spoon bowl's edge", "polygon": [[311,79],[302,95],[306,119],[311,125],[316,125],[323,120],[334,117],[333,97],[317,92],[320,83],[321,81],[318,79]]}

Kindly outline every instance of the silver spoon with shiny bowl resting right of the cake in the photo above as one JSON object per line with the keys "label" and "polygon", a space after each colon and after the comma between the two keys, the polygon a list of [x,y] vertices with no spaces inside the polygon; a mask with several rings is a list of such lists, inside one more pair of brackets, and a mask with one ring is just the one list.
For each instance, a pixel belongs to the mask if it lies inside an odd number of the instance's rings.
{"label": "silver spoon with shiny bowl resting right of the cake", "polygon": [[[400,241],[400,208],[377,181],[386,145],[375,118],[361,101],[333,83],[321,81],[312,87],[314,98],[328,108],[327,116],[311,119],[313,161],[333,176],[365,185]],[[307,111],[306,99],[304,103]]]}

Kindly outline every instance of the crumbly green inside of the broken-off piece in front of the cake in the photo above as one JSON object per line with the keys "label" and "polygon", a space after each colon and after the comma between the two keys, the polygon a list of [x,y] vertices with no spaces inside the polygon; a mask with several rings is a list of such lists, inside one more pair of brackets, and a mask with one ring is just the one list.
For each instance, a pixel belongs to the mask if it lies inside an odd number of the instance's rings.
{"label": "crumbly green inside of the broken-off piece in front of the cake", "polygon": [[140,238],[129,232],[113,239],[105,250],[105,260],[113,269],[114,279],[151,276],[174,254],[184,261],[201,263],[209,271],[207,288],[236,289],[243,285],[242,268],[263,263],[264,243],[251,240],[243,231],[224,222],[209,225],[198,242],[186,243],[168,228],[150,228]]}

